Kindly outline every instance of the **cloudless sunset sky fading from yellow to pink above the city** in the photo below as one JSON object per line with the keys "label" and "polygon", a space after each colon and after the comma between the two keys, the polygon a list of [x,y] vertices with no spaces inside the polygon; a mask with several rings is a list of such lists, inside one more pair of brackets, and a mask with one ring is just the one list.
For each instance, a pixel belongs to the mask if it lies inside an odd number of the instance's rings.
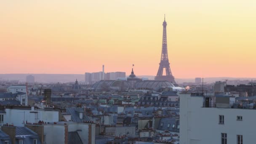
{"label": "cloudless sunset sky fading from yellow to pink above the city", "polygon": [[256,0],[1,0],[0,73],[256,77]]}

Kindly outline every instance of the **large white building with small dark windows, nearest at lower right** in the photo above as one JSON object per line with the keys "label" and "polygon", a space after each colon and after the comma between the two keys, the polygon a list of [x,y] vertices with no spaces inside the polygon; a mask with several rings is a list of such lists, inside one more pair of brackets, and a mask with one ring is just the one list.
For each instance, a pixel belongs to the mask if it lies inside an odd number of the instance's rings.
{"label": "large white building with small dark windows, nearest at lower right", "polygon": [[180,144],[255,144],[253,101],[180,93]]}

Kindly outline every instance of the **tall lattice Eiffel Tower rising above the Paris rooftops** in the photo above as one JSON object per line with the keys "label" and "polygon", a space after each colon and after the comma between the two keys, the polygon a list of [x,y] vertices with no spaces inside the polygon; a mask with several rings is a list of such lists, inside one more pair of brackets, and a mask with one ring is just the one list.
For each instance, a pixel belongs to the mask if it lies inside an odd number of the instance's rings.
{"label": "tall lattice Eiffel Tower rising above the Paris rooftops", "polygon": [[[166,26],[167,23],[163,21],[163,44],[162,44],[162,54],[161,54],[161,61],[159,64],[157,76],[155,80],[166,80],[173,84],[176,84],[174,77],[171,73],[170,63],[168,59],[168,51],[167,51],[167,37],[166,37]],[[163,69],[165,68],[166,75],[163,75]]]}

